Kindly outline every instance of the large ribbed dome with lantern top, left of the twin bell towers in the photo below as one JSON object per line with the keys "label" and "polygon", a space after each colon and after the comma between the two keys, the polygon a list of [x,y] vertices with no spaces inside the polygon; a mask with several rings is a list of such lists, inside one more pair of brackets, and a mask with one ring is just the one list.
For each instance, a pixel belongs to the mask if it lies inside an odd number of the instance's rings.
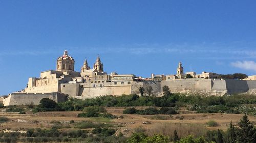
{"label": "large ribbed dome with lantern top, left of the twin bell towers", "polygon": [[75,60],[72,56],[69,56],[68,51],[65,50],[64,54],[57,59],[56,70],[57,71],[74,71]]}

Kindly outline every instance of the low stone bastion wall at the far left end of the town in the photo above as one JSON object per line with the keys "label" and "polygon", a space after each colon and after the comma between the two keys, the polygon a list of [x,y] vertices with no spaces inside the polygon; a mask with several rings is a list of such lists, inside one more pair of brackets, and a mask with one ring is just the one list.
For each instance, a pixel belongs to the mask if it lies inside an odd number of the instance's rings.
{"label": "low stone bastion wall at the far left end of the town", "polygon": [[38,105],[42,98],[50,98],[55,102],[63,102],[67,100],[65,94],[61,93],[49,93],[49,94],[23,94],[23,93],[12,93],[4,99],[4,106],[10,105]]}

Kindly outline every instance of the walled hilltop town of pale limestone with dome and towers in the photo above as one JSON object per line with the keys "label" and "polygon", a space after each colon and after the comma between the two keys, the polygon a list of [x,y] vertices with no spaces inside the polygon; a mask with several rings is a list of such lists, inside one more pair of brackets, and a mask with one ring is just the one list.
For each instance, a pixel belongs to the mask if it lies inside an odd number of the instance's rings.
{"label": "walled hilltop town of pale limestone with dome and towers", "polygon": [[[40,77],[28,79],[27,87],[9,96],[2,97],[5,106],[39,104],[40,99],[48,97],[56,102],[65,101],[66,97],[78,99],[93,98],[105,95],[140,94],[145,90],[148,96],[163,96],[162,88],[169,87],[173,93],[197,93],[207,95],[224,95],[232,93],[254,92],[256,81],[252,77],[247,80],[222,79],[220,74],[211,72],[184,73],[182,63],[178,64],[177,73],[155,75],[142,78],[134,74],[108,74],[98,56],[91,68],[84,61],[81,71],[74,70],[75,60],[65,50],[56,61],[56,70],[40,73]],[[188,77],[189,76],[189,77]],[[250,80],[250,81],[248,81]]]}

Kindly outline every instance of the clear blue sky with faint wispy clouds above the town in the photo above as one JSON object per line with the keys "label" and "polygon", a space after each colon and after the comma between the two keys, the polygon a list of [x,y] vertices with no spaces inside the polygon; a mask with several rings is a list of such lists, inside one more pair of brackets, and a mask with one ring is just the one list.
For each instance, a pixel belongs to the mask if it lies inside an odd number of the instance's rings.
{"label": "clear blue sky with faint wispy clouds above the town", "polygon": [[0,1],[0,95],[99,53],[106,72],[256,74],[256,1]]}

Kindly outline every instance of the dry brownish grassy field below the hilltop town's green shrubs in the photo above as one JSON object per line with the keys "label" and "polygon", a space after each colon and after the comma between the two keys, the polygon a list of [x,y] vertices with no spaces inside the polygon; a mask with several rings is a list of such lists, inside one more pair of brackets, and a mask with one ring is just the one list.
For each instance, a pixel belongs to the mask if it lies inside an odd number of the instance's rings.
{"label": "dry brownish grassy field below the hilltop town's green shrubs", "polygon": [[[52,111],[32,113],[27,111],[25,115],[15,112],[0,112],[1,117],[6,117],[9,121],[0,123],[0,130],[27,130],[28,128],[50,129],[53,126],[59,130],[71,130],[78,128],[81,122],[105,123],[116,129],[116,134],[121,132],[124,136],[130,136],[136,130],[145,130],[149,135],[161,133],[172,136],[176,129],[180,136],[189,134],[200,136],[207,130],[227,130],[230,121],[234,125],[242,118],[243,114],[226,113],[183,113],[179,115],[124,115],[123,109],[126,107],[106,107],[106,110],[113,115],[123,118],[77,118],[81,111]],[[145,107],[136,107],[142,109]],[[71,124],[70,121],[74,120]],[[252,123],[256,123],[256,117],[249,116]],[[207,122],[215,121],[214,127],[207,126]],[[92,130],[85,128],[82,130]]]}

